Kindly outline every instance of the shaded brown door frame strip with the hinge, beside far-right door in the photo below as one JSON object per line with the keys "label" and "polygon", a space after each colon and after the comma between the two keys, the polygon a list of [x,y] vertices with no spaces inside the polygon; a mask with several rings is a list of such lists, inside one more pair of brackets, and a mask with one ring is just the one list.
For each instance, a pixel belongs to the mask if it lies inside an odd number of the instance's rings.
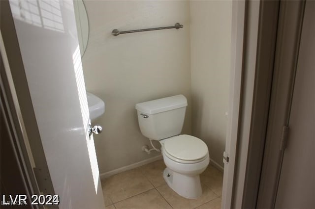
{"label": "shaded brown door frame strip with the hinge, beside far-right door", "polygon": [[281,1],[273,89],[257,208],[274,208],[288,126],[306,1]]}

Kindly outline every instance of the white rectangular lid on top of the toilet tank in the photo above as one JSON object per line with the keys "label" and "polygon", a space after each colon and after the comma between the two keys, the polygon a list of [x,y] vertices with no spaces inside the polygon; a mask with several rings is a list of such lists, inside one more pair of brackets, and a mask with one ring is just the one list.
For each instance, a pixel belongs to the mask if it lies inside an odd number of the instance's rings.
{"label": "white rectangular lid on top of the toilet tank", "polygon": [[187,99],[184,95],[180,94],[172,97],[138,103],[136,104],[136,109],[147,114],[156,114],[185,106],[187,106]]}

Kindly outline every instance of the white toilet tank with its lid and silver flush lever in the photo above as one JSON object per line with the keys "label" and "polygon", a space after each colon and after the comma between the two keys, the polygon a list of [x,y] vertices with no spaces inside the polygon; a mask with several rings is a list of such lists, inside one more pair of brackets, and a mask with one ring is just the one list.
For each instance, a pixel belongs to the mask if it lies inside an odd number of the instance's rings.
{"label": "white toilet tank with its lid and silver flush lever", "polygon": [[176,95],[136,104],[139,127],[150,139],[161,140],[182,131],[187,99]]}

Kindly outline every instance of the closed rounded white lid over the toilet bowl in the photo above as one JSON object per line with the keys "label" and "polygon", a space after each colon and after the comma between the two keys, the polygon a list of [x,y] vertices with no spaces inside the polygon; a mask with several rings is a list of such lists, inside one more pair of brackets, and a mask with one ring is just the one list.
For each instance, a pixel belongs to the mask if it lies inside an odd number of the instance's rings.
{"label": "closed rounded white lid over the toilet bowl", "polygon": [[182,160],[197,160],[208,154],[208,147],[201,139],[190,135],[178,135],[164,142],[164,150]]}

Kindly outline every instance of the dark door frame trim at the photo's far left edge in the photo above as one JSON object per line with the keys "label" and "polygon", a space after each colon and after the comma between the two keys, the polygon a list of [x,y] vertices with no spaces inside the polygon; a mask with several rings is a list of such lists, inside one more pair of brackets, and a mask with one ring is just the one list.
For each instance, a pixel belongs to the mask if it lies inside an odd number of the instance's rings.
{"label": "dark door frame trim at the photo's far left edge", "polygon": [[[19,119],[18,107],[14,102],[14,92],[10,88],[9,67],[5,52],[2,51],[2,37],[0,33],[0,124],[1,124],[1,201],[2,195],[27,195],[26,208],[31,206],[32,194],[39,195],[38,185],[32,172],[33,161],[27,151],[28,140],[24,135],[24,123]],[[2,205],[2,202],[1,202]],[[43,208],[39,206],[39,208]]]}

